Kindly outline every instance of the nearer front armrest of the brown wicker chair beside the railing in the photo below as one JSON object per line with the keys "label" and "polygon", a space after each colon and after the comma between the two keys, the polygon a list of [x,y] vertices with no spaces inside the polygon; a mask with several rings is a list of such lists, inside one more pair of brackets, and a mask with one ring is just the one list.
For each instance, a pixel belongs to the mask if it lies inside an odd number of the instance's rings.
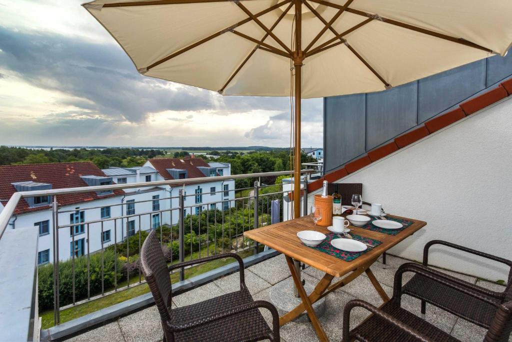
{"label": "nearer front armrest of the brown wicker chair beside the railing", "polygon": [[272,314],[272,333],[273,333],[272,337],[273,337],[274,341],[279,341],[280,336],[279,336],[278,310],[275,309],[275,307],[266,300],[255,300],[252,303],[247,303],[247,304],[244,304],[244,305],[241,305],[241,306],[229,309],[229,310],[220,311],[213,316],[203,318],[203,319],[193,320],[193,321],[187,322],[185,324],[172,325],[172,324],[168,323],[167,327],[173,331],[187,330],[187,329],[195,328],[195,327],[207,324],[207,323],[211,323],[213,321],[216,321],[216,320],[219,320],[222,318],[236,315],[236,314],[244,312],[244,311],[249,311],[249,310],[253,310],[253,309],[257,309],[257,308],[264,308],[264,309],[267,309],[268,311],[270,311],[270,313]]}

